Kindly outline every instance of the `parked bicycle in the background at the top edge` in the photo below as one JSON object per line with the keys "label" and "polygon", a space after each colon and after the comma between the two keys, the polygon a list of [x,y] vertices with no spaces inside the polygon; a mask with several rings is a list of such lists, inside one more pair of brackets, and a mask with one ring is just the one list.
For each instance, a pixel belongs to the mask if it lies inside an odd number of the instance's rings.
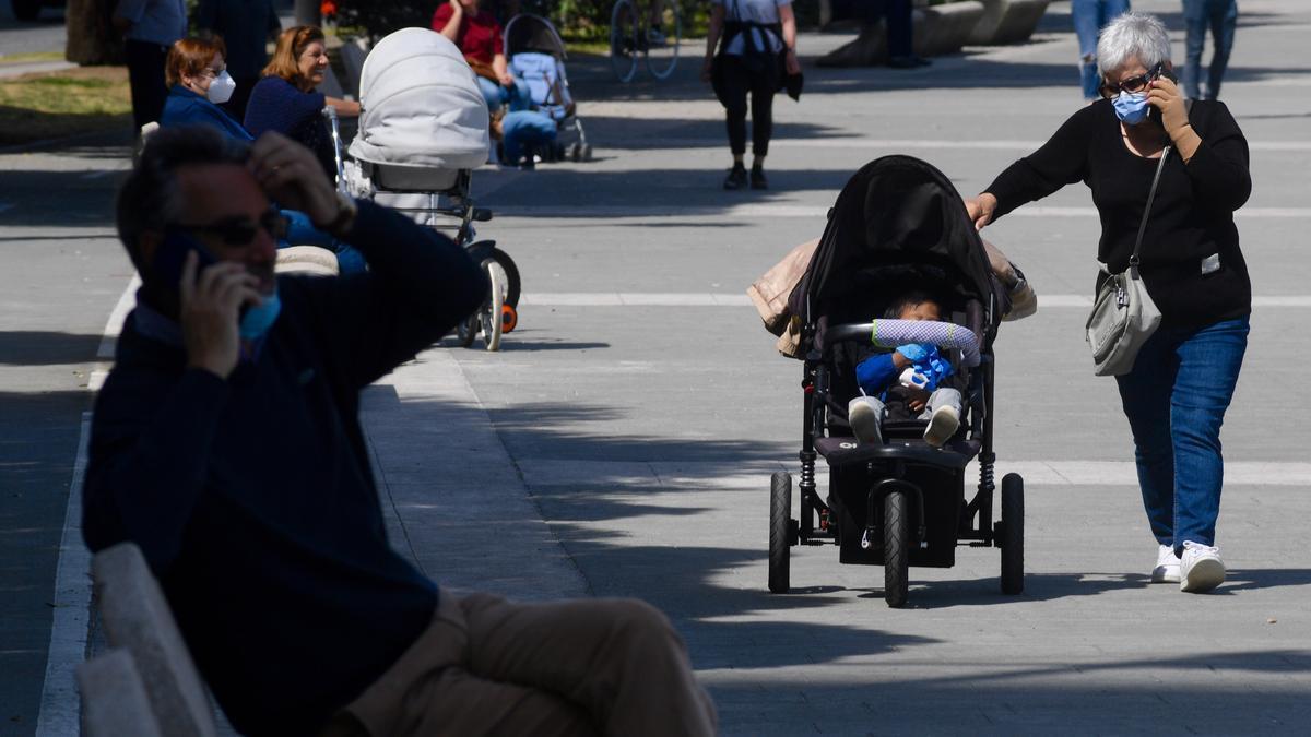
{"label": "parked bicycle in the background at the top edge", "polygon": [[[637,75],[637,56],[658,80],[669,79],[678,64],[683,18],[676,0],[649,0],[640,13],[637,0],[617,0],[610,12],[610,66],[621,83]],[[644,17],[645,16],[645,17]]]}

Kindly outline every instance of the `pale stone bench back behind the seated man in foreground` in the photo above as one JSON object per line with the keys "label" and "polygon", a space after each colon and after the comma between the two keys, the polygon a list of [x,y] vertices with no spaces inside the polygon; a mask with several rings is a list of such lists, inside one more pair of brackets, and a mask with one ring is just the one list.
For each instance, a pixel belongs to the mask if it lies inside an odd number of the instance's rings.
{"label": "pale stone bench back behind the seated man in foreground", "polygon": [[88,737],[216,737],[205,682],[140,548],[92,559],[110,650],[77,667]]}

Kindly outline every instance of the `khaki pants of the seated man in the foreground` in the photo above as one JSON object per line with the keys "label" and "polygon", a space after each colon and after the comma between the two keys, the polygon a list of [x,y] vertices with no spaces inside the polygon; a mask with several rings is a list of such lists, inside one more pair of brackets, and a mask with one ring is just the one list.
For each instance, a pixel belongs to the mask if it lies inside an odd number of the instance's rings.
{"label": "khaki pants of the seated man in the foreground", "polygon": [[442,593],[433,623],[325,737],[713,734],[669,620],[636,599]]}

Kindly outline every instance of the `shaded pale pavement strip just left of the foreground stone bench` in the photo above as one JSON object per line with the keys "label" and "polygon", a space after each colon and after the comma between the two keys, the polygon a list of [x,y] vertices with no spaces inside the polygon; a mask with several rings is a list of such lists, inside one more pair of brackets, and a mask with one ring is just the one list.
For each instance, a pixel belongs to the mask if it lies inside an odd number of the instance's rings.
{"label": "shaded pale pavement strip just left of the foreground stone bench", "polygon": [[80,702],[73,677],[77,666],[87,660],[90,619],[90,551],[81,538],[81,492],[89,439],[90,412],[84,412],[77,459],[73,462],[73,477],[68,488],[64,532],[59,540],[54,622],[46,656],[46,681],[41,688],[41,712],[37,715],[37,737],[79,733]]}

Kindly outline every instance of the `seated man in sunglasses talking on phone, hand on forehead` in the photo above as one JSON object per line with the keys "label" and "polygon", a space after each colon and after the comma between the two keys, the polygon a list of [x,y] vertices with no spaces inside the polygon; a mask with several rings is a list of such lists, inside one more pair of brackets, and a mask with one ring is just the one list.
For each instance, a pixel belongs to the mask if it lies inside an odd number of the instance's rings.
{"label": "seated man in sunglasses talking on phone, hand on forehead", "polygon": [[[275,278],[270,199],[370,270]],[[151,138],[118,231],[143,287],[96,401],[83,531],[93,551],[142,548],[233,727],[713,733],[650,606],[439,591],[388,544],[359,392],[481,304],[464,249],[338,195],[275,132],[197,127]]]}

